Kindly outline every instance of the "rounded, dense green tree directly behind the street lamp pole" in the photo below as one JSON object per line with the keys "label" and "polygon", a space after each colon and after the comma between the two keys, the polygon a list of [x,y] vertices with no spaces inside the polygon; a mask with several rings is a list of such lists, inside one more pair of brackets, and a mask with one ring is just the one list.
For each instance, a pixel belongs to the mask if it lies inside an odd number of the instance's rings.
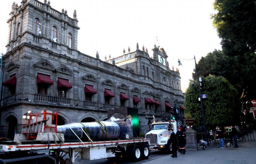
{"label": "rounded, dense green tree directly behind the street lamp pole", "polygon": [[[231,125],[240,122],[238,92],[224,77],[209,75],[202,78],[202,93],[208,98],[203,100],[204,116],[207,127]],[[195,126],[202,126],[198,82],[191,80],[186,92],[185,108],[195,119]]]}

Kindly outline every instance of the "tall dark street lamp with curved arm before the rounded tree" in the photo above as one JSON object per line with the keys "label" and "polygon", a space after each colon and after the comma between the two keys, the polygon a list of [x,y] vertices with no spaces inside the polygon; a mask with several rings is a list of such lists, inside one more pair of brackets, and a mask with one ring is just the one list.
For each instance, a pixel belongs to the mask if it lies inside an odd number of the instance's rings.
{"label": "tall dark street lamp with curved arm before the rounded tree", "polygon": [[[195,60],[195,55],[194,55],[194,58],[192,58],[192,59],[184,59],[184,60],[193,60],[193,59]],[[178,63],[179,63],[179,66],[182,66],[180,59],[178,59]],[[195,61],[195,72],[197,74],[197,80],[198,80],[198,89],[199,89],[200,103],[201,103],[201,109],[202,109],[202,118],[203,118],[203,123],[204,123],[204,135],[205,135],[206,142],[208,143],[208,137],[206,135],[206,125],[205,125],[205,119],[204,119],[203,98],[201,96],[201,80],[199,79],[198,65],[197,65],[196,61]]]}

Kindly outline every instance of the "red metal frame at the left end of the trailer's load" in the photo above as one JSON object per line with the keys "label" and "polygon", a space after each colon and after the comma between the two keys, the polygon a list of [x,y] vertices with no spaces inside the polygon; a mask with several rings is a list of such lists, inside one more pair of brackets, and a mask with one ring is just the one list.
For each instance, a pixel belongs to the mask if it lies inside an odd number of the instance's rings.
{"label": "red metal frame at the left end of the trailer's load", "polygon": [[[41,121],[45,121],[45,120],[46,120],[46,114],[52,115],[52,122],[51,122],[51,124],[53,124],[54,117],[56,118],[56,119],[55,119],[55,126],[47,126],[47,125],[44,125],[44,131],[45,131],[46,128],[50,128],[50,129],[54,129],[54,131],[57,132],[58,111],[56,111],[56,113],[47,113],[46,110],[44,110],[43,113],[36,113],[36,114],[30,113],[30,114],[29,114],[29,123],[28,123],[27,125],[25,125],[25,126],[32,125],[32,124],[36,124],[36,123],[38,122],[38,116],[41,117],[42,114],[43,114],[43,120],[41,120]],[[33,116],[36,117],[36,122],[30,123],[30,122],[31,122],[31,118],[32,118]],[[25,126],[23,126],[23,127],[25,127]],[[29,134],[29,133],[30,133],[31,135],[28,135],[28,136],[27,136],[27,140],[29,140],[29,139],[31,139],[31,138],[34,138],[34,139],[37,138],[38,132],[23,132],[23,134]]]}

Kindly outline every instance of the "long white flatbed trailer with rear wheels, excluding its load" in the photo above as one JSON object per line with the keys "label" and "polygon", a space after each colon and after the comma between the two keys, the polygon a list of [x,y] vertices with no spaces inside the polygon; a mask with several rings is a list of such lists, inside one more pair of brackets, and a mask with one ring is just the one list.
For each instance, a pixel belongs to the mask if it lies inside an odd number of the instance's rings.
{"label": "long white flatbed trailer with rear wheels, excluding its load", "polygon": [[[115,143],[119,143],[125,148],[125,155],[129,159],[139,161],[147,159],[150,153],[150,140],[141,138],[131,138],[129,140],[108,140],[89,142],[65,142],[65,143],[31,143],[23,142],[1,142],[0,144],[0,164],[3,163],[70,163],[75,164],[75,159],[101,159],[114,157],[112,154]],[[51,155],[38,154],[38,150],[51,150]],[[65,161],[63,157],[69,155]],[[17,158],[18,157],[18,158]]]}

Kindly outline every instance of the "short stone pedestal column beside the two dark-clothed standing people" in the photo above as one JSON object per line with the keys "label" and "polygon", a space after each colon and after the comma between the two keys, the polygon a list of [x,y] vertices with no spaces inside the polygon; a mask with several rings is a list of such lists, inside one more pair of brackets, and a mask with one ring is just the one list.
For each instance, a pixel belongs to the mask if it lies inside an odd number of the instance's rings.
{"label": "short stone pedestal column beside the two dark-clothed standing people", "polygon": [[198,143],[197,143],[197,131],[194,131],[192,128],[187,129],[186,131],[186,138],[187,138],[187,144],[186,149],[187,150],[197,150]]}

